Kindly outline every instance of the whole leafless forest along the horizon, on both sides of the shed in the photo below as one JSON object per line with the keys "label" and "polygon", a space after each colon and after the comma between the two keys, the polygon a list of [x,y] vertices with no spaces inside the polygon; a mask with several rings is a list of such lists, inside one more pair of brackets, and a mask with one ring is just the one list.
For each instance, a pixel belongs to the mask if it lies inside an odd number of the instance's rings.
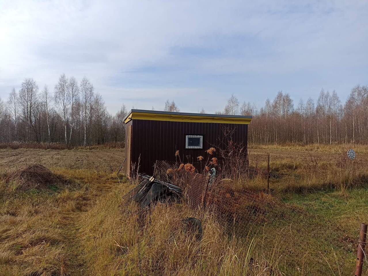
{"label": "whole leafless forest along the horizon, on both sides of the shed", "polygon": [[[169,100],[164,110],[180,111]],[[124,142],[123,118],[127,111],[123,104],[115,115],[110,114],[102,96],[95,93],[86,77],[78,82],[62,74],[53,91],[47,86],[40,89],[35,80],[26,78],[19,91],[13,88],[7,100],[0,98],[0,142],[71,146]],[[206,111],[202,108],[200,113]],[[368,142],[368,86],[351,89],[346,103],[340,101],[335,91],[323,89],[318,99],[300,100],[296,105],[288,93],[279,91],[261,108],[250,102],[241,104],[231,95],[224,110],[215,113],[252,115],[250,143]]]}

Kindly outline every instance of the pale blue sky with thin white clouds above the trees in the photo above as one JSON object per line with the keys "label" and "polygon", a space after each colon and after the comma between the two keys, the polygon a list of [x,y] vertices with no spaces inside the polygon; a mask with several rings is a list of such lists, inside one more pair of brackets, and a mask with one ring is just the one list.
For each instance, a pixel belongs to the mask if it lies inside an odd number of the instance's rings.
{"label": "pale blue sky with thin white clouds above the trees", "polygon": [[279,90],[344,102],[368,85],[368,1],[0,0],[0,97],[86,76],[110,113],[261,107]]}

